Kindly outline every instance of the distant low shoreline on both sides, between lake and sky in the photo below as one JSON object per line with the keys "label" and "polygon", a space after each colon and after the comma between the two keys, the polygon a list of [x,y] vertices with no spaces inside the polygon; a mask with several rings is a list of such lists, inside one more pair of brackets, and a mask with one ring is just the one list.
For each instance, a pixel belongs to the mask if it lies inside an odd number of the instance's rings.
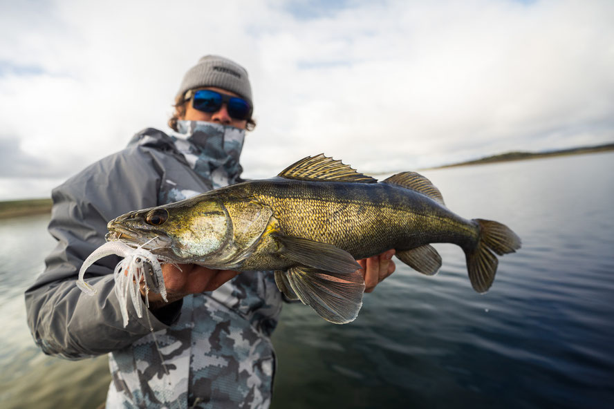
{"label": "distant low shoreline on both sides, between lake and sky", "polygon": [[[485,158],[480,158],[476,160],[469,160],[467,162],[446,164],[440,167],[431,167],[431,168],[425,168],[422,170],[427,171],[427,170],[434,170],[434,169],[463,167],[463,166],[469,166],[469,165],[474,165],[474,164],[513,162],[517,160],[541,159],[541,158],[551,158],[555,156],[581,155],[584,153],[599,153],[599,152],[607,152],[607,151],[614,151],[614,143],[598,145],[598,146],[582,146],[579,148],[561,149],[559,151],[548,151],[548,152],[524,152],[524,151],[508,152],[508,153],[501,153],[499,155],[490,155],[490,156],[486,156]],[[387,172],[387,173],[394,173],[394,172]],[[384,174],[384,173],[378,172],[378,174]],[[7,202],[0,202],[0,220],[20,217],[20,216],[32,216],[36,214],[50,213],[52,205],[53,205],[53,202],[51,201],[50,198],[29,199],[29,200],[28,199],[10,200]]]}

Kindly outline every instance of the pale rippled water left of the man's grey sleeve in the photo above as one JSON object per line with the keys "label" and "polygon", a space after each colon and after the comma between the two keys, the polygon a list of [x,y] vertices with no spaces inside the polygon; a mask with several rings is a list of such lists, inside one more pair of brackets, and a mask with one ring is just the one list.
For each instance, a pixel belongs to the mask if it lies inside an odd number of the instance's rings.
{"label": "pale rippled water left of the man's grey sleeve", "polygon": [[24,290],[55,247],[48,215],[0,220],[0,408],[91,408],[106,397],[108,359],[44,355],[26,325]]}

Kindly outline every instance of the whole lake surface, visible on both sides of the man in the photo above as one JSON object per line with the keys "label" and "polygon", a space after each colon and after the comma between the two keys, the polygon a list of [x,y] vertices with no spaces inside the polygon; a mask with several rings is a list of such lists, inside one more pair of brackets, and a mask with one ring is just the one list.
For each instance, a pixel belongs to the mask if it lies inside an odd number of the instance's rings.
{"label": "whole lake surface, visible on both sides of the man", "polygon": [[[499,260],[487,294],[465,256],[397,271],[365,294],[351,324],[284,305],[273,336],[272,408],[604,408],[614,402],[614,154],[422,172],[465,218],[503,222],[523,248]],[[44,356],[23,291],[53,239],[48,216],[0,220],[0,407],[95,407],[106,356]]]}

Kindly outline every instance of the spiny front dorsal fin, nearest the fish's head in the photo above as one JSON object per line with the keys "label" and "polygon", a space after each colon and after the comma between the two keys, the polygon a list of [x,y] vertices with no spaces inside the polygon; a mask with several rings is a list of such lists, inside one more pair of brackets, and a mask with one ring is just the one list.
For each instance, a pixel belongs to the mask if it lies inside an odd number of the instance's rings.
{"label": "spiny front dorsal fin, nearest the fish's head", "polygon": [[327,182],[355,182],[355,183],[377,183],[378,181],[371,176],[358,173],[349,165],[343,164],[340,160],[327,158],[320,153],[317,156],[308,156],[286,169],[278,175],[281,178],[297,180],[314,180]]}

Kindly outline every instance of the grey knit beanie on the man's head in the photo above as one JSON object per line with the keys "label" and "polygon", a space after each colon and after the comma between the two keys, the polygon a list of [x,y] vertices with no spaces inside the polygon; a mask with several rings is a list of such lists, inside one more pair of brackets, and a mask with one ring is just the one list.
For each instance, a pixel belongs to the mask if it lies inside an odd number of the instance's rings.
{"label": "grey knit beanie on the man's head", "polygon": [[177,96],[203,86],[216,86],[239,94],[253,107],[252,87],[248,71],[230,59],[218,55],[205,55],[190,68],[179,86]]}

